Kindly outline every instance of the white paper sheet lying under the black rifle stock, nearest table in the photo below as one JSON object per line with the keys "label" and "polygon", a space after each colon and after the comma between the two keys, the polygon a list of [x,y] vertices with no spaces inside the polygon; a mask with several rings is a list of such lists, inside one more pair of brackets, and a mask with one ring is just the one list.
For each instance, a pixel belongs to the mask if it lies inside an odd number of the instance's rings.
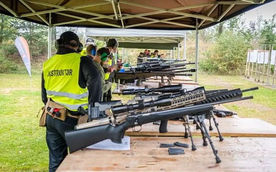
{"label": "white paper sheet lying under the black rifle stock, nearest table", "polygon": [[89,149],[105,149],[105,150],[130,150],[130,137],[124,136],[122,143],[114,143],[110,139],[103,140],[99,143],[95,143],[86,148]]}

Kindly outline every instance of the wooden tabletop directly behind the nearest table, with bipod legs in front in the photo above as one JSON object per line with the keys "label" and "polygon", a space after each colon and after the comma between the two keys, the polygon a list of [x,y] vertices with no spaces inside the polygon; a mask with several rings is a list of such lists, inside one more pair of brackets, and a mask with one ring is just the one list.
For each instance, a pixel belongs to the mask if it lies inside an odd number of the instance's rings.
{"label": "wooden tabletop directly behind the nearest table, with bipod legs in front", "polygon": [[[276,137],[276,126],[259,118],[216,118],[218,129],[222,137]],[[205,119],[205,125],[209,129],[209,120]],[[142,130],[133,132],[129,129],[125,132],[128,136],[184,136],[185,129],[181,121],[169,121],[168,132],[159,133],[159,125],[144,124]],[[211,136],[218,136],[214,121],[211,120],[213,131],[208,131]],[[200,130],[196,130],[196,124],[190,124],[193,136],[202,136]],[[215,140],[215,138],[214,138]]]}

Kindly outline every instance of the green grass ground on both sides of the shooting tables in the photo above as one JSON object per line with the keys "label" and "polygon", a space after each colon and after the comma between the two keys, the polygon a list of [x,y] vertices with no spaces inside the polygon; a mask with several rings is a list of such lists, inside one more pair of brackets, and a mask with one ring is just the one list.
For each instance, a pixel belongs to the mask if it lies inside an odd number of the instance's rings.
{"label": "green grass ground on both sides of the shooting tables", "polygon": [[[43,105],[40,82],[40,75],[33,75],[32,84],[28,75],[0,75],[0,171],[48,170],[45,128],[38,126],[36,116]],[[238,76],[199,76],[199,84],[206,90],[257,86]],[[253,95],[254,99],[225,106],[240,117],[261,118],[276,124],[276,90],[260,86],[245,95]],[[113,98],[125,102],[131,97]]]}

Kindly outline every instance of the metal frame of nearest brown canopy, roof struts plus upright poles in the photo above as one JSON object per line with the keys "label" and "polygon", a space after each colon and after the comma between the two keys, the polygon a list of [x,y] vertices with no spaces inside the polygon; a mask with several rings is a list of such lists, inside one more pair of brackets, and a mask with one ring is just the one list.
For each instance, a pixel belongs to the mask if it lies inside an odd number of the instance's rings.
{"label": "metal frame of nearest brown canopy, roof struts plus upright poles", "polygon": [[[81,4],[77,6],[66,6],[67,2],[69,1],[58,1],[60,2],[59,5],[56,4],[50,4],[50,3],[45,3],[41,2],[42,0],[0,0],[0,13],[10,15],[13,17],[17,18],[22,18],[23,20],[27,21],[32,21],[34,23],[39,23],[42,25],[49,26],[49,43],[48,43],[48,57],[51,55],[51,28],[53,26],[85,26],[85,27],[98,27],[102,28],[103,26],[109,27],[109,28],[132,28],[132,29],[171,29],[171,30],[196,30],[196,68],[198,69],[198,56],[199,56],[199,33],[198,31],[200,29],[205,29],[207,27],[213,26],[219,22],[228,20],[232,17],[235,17],[245,11],[248,11],[252,8],[256,8],[260,5],[263,5],[265,3],[272,2],[274,0],[232,0],[232,1],[214,1],[214,2],[206,2],[202,4],[194,4],[194,5],[187,5],[183,7],[178,7],[178,8],[171,8],[171,9],[165,9],[165,8],[159,8],[159,7],[153,7],[151,5],[145,5],[145,4],[139,4],[135,2],[128,2],[125,0],[102,0],[102,2],[94,2],[94,3],[89,3],[89,4]],[[71,0],[72,1],[72,0]],[[183,0],[184,1],[184,0]],[[16,10],[18,2],[23,5],[23,8],[25,7],[27,10],[30,12],[28,13],[23,13],[23,14],[17,14]],[[65,2],[65,6],[62,4]],[[15,5],[14,5],[15,3]],[[28,4],[29,3],[29,4]],[[11,5],[12,4],[12,5]],[[47,10],[42,10],[42,11],[36,11],[37,9],[31,7],[34,6],[34,4],[43,6],[44,8],[55,8],[55,9],[47,9]],[[62,4],[62,5],[61,5]],[[99,14],[99,13],[94,13],[90,11],[83,11],[80,10],[81,8],[87,8],[87,7],[95,7],[95,6],[100,6],[100,5],[108,5],[110,4],[112,6],[112,11],[114,14],[112,15],[105,15],[105,14]],[[122,11],[121,5],[130,5],[138,7],[138,8],[145,8],[149,10],[153,10],[151,12],[146,12],[146,13],[140,13],[140,14],[128,14],[127,12]],[[228,5],[226,8],[223,9],[223,11],[218,12],[217,16],[211,17],[214,15],[214,12],[219,8],[222,7],[222,5]],[[200,7],[210,7],[210,11],[208,14],[201,14],[200,13],[194,13],[193,9],[200,8]],[[236,11],[233,9],[237,6],[241,6],[241,9],[237,9]],[[42,8],[43,9],[43,8]],[[183,10],[189,9],[191,13],[187,12],[181,12]],[[232,12],[230,12],[232,10]],[[63,11],[63,12],[62,12]],[[66,12],[72,12],[74,13],[73,15],[67,14]],[[130,10],[131,11],[131,10]],[[64,13],[65,12],[65,13]],[[157,18],[152,18],[152,17],[145,17],[145,16],[153,16],[153,15],[159,15],[159,14],[174,14],[178,15],[177,17],[167,17],[167,18],[162,18],[162,19],[157,19]],[[230,13],[230,14],[229,14]],[[47,15],[45,15],[47,14]],[[58,20],[51,20],[53,17],[52,14],[55,15],[60,15],[60,16],[66,16],[66,18],[74,18],[77,20],[71,20],[71,21],[58,21]],[[96,16],[96,17],[82,17],[82,15],[91,15],[91,16]],[[38,17],[40,20],[35,20],[32,18],[33,16]],[[128,24],[126,22],[128,19],[140,19],[140,20],[148,20],[146,22],[142,23],[135,23],[135,24]],[[53,18],[54,19],[54,18]],[[104,21],[99,21],[101,19],[108,19],[110,21],[121,21],[121,25],[114,24],[111,22],[104,22]],[[190,23],[185,23],[183,22],[185,19],[191,19]],[[174,21],[171,21],[174,20]],[[183,20],[178,21],[178,20]],[[57,22],[58,21],[58,22]],[[187,20],[188,21],[188,20]],[[194,23],[193,21],[196,21]],[[89,24],[80,24],[80,23],[85,23],[88,22]],[[209,23],[208,23],[209,22]],[[211,23],[210,23],[211,22]],[[152,25],[156,23],[164,23],[164,24],[169,24],[171,25],[168,26],[159,26],[157,25],[154,27],[148,27],[147,25]],[[130,38],[127,38],[130,39]],[[162,38],[167,39],[167,38]],[[185,47],[185,46],[184,46]],[[178,52],[179,54],[179,52]],[[198,72],[196,72],[196,77],[195,81],[197,81]]]}

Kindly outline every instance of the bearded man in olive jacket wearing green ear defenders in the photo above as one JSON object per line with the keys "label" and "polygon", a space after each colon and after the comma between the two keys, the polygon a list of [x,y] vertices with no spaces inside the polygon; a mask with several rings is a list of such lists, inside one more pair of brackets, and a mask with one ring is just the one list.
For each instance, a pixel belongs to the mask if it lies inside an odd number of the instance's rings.
{"label": "bearded man in olive jacket wearing green ear defenders", "polygon": [[[102,95],[104,93],[106,93],[108,90],[110,90],[111,88],[111,82],[109,81],[105,81],[105,72],[104,69],[102,67],[102,65],[105,65],[108,60],[109,60],[109,56],[111,55],[111,53],[109,52],[109,49],[106,47],[100,48],[97,53],[96,56],[93,58],[95,65],[97,67],[97,69],[100,72],[101,75],[101,82],[102,82]],[[103,99],[103,97],[102,97]]]}

